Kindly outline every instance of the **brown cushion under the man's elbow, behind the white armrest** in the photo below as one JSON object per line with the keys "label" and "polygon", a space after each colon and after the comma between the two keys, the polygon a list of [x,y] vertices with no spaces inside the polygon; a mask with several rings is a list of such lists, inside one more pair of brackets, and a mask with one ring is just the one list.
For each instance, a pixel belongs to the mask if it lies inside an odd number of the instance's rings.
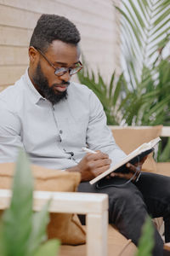
{"label": "brown cushion under the man's elbow, behind the white armrest", "polygon": [[[74,192],[80,183],[77,172],[62,172],[32,166],[35,177],[35,189],[43,191]],[[10,189],[14,173],[14,164],[0,164],[0,189]],[[50,213],[48,238],[57,237],[63,244],[77,245],[85,243],[85,231],[76,214]]]}

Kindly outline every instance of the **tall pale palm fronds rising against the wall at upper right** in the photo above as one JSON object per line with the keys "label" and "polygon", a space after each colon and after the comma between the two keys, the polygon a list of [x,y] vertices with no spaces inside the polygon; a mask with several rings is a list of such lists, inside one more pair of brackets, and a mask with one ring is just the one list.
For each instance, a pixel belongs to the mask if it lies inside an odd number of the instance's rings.
{"label": "tall pale palm fronds rising against the wall at upper right", "polygon": [[162,57],[170,38],[167,0],[122,0],[122,57],[131,93],[123,118],[128,125],[170,124],[170,63]]}

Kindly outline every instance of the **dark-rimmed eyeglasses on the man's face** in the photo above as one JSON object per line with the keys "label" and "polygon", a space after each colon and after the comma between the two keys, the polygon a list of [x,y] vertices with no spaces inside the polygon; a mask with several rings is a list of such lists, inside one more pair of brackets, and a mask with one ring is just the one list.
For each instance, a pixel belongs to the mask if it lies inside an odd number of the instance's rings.
{"label": "dark-rimmed eyeglasses on the man's face", "polygon": [[[41,49],[38,49],[37,47],[34,47],[35,49],[37,49],[37,51],[42,55],[42,57],[48,61],[48,58],[46,57],[46,55],[44,55],[42,53]],[[71,76],[76,74],[77,72],[79,72],[82,69],[82,63],[81,61],[78,61],[77,66],[76,67],[54,67],[54,64],[51,63],[51,61],[48,61],[48,64],[54,68],[54,74],[57,77],[63,76],[65,73],[69,73]]]}

